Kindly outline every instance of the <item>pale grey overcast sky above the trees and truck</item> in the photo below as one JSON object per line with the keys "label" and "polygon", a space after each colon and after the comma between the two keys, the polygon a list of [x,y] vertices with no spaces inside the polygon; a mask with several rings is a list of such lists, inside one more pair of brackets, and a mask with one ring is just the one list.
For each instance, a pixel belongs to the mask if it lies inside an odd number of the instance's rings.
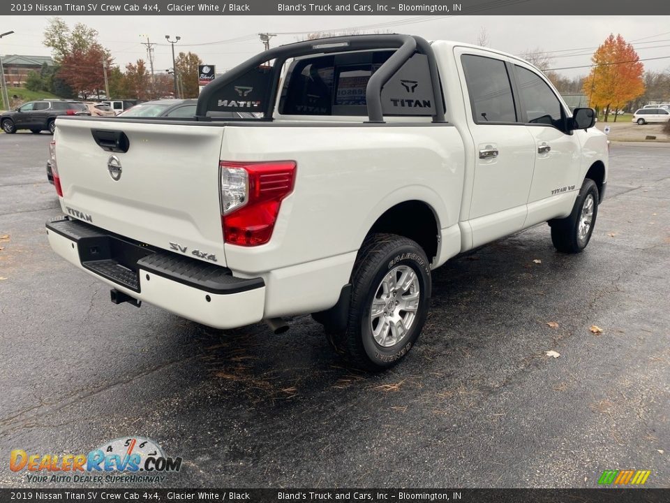
{"label": "pale grey overcast sky above the trees and truck", "polygon": [[[100,42],[112,52],[121,67],[137,59],[147,60],[140,42],[147,35],[155,47],[154,70],[172,67],[170,44],[165,35],[181,36],[177,51],[193,51],[217,73],[232,68],[262,50],[258,33],[270,32],[271,45],[295,42],[304,32],[363,27],[362,33],[379,31],[477,43],[486,30],[489,47],[512,54],[544,50],[551,52],[552,68],[585,66],[590,55],[610,33],[633,43],[645,68],[670,68],[670,16],[62,16],[68,25],[87,24],[100,33]],[[42,45],[48,17],[12,16],[0,19],[0,32],[15,34],[0,40],[0,54],[49,55]],[[374,25],[374,26],[373,26]],[[230,39],[237,39],[228,42]],[[200,44],[200,45],[198,45]],[[202,45],[207,44],[207,45]],[[586,75],[589,68],[561,69],[569,77]]]}

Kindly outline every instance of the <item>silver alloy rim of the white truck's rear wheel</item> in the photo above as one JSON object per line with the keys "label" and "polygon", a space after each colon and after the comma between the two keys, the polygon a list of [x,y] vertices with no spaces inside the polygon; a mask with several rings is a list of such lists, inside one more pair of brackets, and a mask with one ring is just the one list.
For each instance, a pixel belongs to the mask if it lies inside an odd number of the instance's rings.
{"label": "silver alloy rim of the white truck's rear wheel", "polygon": [[370,328],[381,347],[398,344],[410,331],[419,310],[421,286],[408,265],[389,270],[372,299]]}

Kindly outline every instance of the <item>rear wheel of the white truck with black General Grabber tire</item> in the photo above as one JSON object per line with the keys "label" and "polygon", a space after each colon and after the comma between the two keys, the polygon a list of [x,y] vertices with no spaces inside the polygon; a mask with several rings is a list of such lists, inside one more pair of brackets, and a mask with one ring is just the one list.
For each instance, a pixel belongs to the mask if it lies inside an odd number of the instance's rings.
{"label": "rear wheel of the white truck with black General Grabber tire", "polygon": [[[410,271],[414,272],[413,276]],[[404,272],[407,273],[408,280],[411,278],[412,281],[411,286],[408,286],[410,289],[408,297],[414,296],[417,290],[419,292],[416,312],[410,313],[398,310],[400,307],[394,308],[396,316],[405,316],[404,321],[408,323],[409,328],[402,335],[396,335],[400,329],[396,323],[390,323],[388,343],[392,345],[382,346],[375,340],[373,329],[380,328],[380,332],[385,331],[384,326],[380,326],[385,314],[380,314],[376,318],[375,325],[375,319],[371,318],[373,298],[382,292],[382,280],[395,276],[392,281],[396,284],[404,277]],[[352,295],[347,328],[342,333],[334,333],[325,327],[329,344],[352,365],[366,370],[380,371],[396,365],[414,346],[428,314],[431,270],[424,250],[416,242],[399,235],[372,234],[359,250],[351,284]],[[400,290],[402,286],[398,287],[398,291]],[[385,294],[382,293],[381,296]],[[396,293],[396,296],[389,296],[387,300],[378,299],[378,307],[384,305],[384,302],[395,302],[399,305],[399,302],[408,297],[403,296],[403,293],[400,295]],[[408,321],[407,316],[410,314],[413,314],[413,317]],[[390,328],[391,325],[394,326],[395,333]]]}

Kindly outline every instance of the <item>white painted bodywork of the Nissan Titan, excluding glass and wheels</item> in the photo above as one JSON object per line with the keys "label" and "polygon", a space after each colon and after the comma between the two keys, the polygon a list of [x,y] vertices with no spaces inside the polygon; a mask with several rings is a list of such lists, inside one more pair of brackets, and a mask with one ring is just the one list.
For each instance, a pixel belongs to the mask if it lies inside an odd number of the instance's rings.
{"label": "white painted bodywork of the Nissan Titan, excluding glass and wheels", "polygon": [[[103,279],[128,296],[218,328],[335,305],[366,235],[387,210],[407,201],[427,205],[437,222],[432,268],[569,214],[587,170],[595,163],[607,168],[606,137],[595,129],[568,134],[551,126],[475,123],[462,54],[537,71],[514,56],[475,46],[438,41],[432,48],[448,124],[429,117],[364,124],[362,117],[282,116],[278,97],[271,123],[59,119],[61,207],[73,218],[89,215],[94,226],[157,249],[179,254],[170,245],[177,243],[213,254],[233,277],[262,278],[262,288],[209,296],[207,303],[202,291],[164,277],[148,281],[144,270],[140,292]],[[117,154],[120,180],[110,177],[111,154],[96,145],[91,129],[128,136],[131,149]],[[551,145],[551,152],[539,153],[543,145]],[[498,155],[480,159],[479,151],[487,149]],[[220,160],[295,161],[295,187],[281,202],[267,244],[224,244]],[[50,243],[82,268],[74,243],[51,232]],[[198,254],[192,258],[212,263]]]}

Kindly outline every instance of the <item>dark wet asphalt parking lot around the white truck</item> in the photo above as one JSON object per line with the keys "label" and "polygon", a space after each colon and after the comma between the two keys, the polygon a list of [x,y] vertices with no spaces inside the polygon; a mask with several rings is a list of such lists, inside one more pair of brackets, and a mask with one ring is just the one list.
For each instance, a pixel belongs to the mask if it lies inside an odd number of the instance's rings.
{"label": "dark wet asphalt parking lot around the white truck", "polygon": [[12,449],[127,435],[184,458],[166,487],[670,486],[670,148],[612,146],[583,254],[537,226],[435,271],[417,347],[366,375],[309,316],[223,333],[112,305],[47,244],[50,139],[0,135],[1,486],[30,486]]}

